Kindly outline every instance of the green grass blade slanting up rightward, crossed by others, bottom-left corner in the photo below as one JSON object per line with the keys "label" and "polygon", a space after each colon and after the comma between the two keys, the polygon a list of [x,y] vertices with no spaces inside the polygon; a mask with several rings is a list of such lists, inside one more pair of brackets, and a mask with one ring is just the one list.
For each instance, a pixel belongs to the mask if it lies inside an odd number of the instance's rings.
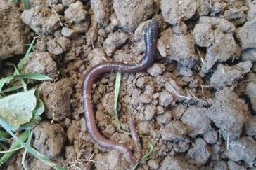
{"label": "green grass blade slanting up rightward, crossed by others, bottom-left corner", "polygon": [[[20,141],[26,141],[27,140],[27,138],[28,138],[28,134],[29,134],[29,132],[28,131],[25,131],[25,132],[23,132],[23,134],[21,134],[20,135],[20,137],[18,138],[18,139],[20,139]],[[15,141],[12,145],[11,145],[11,147],[9,148],[9,150],[13,150],[13,149],[16,149],[16,148],[19,148],[20,147],[20,144],[17,142],[17,141]],[[6,150],[7,151],[7,150]],[[5,153],[2,157],[1,157],[1,159],[0,159],[0,166],[2,165],[2,164],[4,164],[4,162],[6,162],[11,156],[13,156],[13,154],[15,153],[15,151],[12,151],[12,152],[9,152],[9,153]]]}

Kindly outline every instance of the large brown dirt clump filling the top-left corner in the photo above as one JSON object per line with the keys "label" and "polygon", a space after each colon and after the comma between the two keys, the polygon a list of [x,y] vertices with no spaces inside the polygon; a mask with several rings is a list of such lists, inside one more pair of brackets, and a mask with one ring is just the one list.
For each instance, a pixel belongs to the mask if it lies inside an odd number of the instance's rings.
{"label": "large brown dirt clump filling the top-left corner", "polygon": [[[1,2],[4,3],[4,2]],[[20,9],[0,4],[0,60],[25,52],[27,26],[20,19]]]}

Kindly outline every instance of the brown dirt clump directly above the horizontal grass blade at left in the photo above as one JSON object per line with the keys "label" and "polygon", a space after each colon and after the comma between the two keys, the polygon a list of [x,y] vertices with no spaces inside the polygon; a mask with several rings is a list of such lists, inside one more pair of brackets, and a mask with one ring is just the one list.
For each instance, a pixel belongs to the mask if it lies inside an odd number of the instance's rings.
{"label": "brown dirt clump directly above the horizontal grass blade at left", "polygon": [[23,64],[21,73],[42,73],[50,78],[58,74],[56,62],[49,52],[31,52]]}

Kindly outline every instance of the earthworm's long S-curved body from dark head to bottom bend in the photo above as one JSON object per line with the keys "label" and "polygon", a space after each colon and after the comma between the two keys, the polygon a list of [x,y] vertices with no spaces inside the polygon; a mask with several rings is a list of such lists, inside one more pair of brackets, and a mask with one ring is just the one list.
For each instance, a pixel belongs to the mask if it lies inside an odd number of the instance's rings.
{"label": "earthworm's long S-curved body from dark head to bottom bend", "polygon": [[134,164],[135,161],[132,156],[132,151],[128,148],[128,146],[116,141],[110,141],[106,139],[100,132],[98,132],[94,117],[94,109],[91,103],[91,89],[93,87],[94,80],[101,73],[116,71],[122,73],[137,73],[152,65],[158,41],[158,22],[150,22],[147,25],[144,41],[146,43],[146,52],[139,64],[126,64],[122,62],[103,62],[101,64],[97,64],[89,69],[89,71],[85,74],[82,87],[84,118],[87,123],[87,132],[89,132],[91,139],[93,139],[93,141],[102,148],[108,150],[113,149],[123,153],[125,159],[130,164]]}

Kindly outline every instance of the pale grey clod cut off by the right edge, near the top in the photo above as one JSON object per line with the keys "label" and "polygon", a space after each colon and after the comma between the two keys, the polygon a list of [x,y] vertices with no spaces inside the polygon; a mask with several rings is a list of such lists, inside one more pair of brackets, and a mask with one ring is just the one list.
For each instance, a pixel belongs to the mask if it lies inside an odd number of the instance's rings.
{"label": "pale grey clod cut off by the right edge, near the top", "polygon": [[243,50],[246,48],[256,48],[256,18],[245,22],[243,27],[238,30],[237,36]]}

